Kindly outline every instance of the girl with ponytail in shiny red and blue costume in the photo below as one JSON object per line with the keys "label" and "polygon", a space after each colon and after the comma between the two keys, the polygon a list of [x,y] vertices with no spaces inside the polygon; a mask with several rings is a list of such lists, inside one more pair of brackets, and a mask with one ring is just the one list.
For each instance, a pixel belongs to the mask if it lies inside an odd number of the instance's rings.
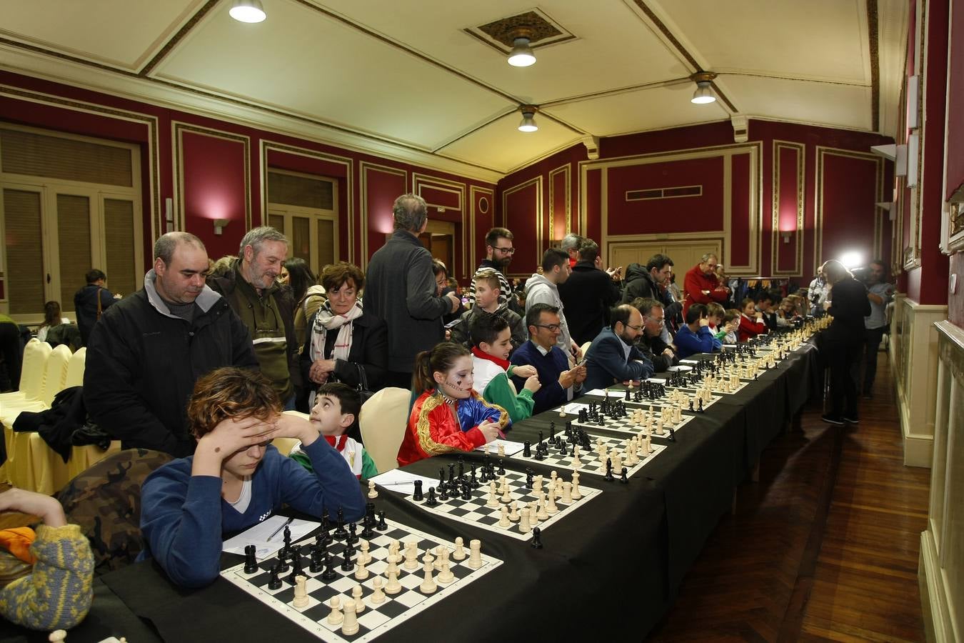
{"label": "girl with ponytail in shiny red and blue costume", "polygon": [[451,451],[471,451],[502,436],[509,415],[472,390],[472,357],[461,344],[443,341],[415,358],[412,389],[418,398],[398,450],[404,467]]}

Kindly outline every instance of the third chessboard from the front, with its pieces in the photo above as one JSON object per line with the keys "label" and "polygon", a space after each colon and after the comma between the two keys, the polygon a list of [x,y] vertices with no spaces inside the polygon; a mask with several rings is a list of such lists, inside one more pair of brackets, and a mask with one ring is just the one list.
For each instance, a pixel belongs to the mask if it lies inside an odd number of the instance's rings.
{"label": "third chessboard from the front, with its pieces", "polygon": [[625,467],[627,477],[632,477],[666,448],[662,444],[647,441],[644,436],[627,439],[594,435],[574,426],[572,422],[567,422],[566,429],[558,435],[551,430],[550,434],[549,438],[543,439],[540,431],[539,442],[534,445],[525,442],[522,451],[509,457],[546,467],[607,477],[621,476]]}

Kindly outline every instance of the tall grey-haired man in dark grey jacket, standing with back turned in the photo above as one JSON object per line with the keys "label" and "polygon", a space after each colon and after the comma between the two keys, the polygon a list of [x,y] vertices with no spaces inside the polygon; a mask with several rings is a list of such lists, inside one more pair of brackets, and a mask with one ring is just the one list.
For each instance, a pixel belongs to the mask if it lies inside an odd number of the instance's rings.
{"label": "tall grey-haired man in dark grey jacket, standing with back turned", "polygon": [[402,195],[392,206],[395,231],[368,262],[363,306],[388,323],[391,387],[411,388],[415,356],[442,341],[442,315],[462,304],[455,293],[436,296],[432,255],[418,241],[428,225],[425,200]]}

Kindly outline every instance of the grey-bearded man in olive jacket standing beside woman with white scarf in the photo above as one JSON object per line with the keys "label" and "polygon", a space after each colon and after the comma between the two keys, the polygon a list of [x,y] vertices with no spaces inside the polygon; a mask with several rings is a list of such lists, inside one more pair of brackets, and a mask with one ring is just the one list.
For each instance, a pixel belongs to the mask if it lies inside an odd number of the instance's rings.
{"label": "grey-bearded man in olive jacket standing beside woman with white scarf", "polygon": [[289,286],[278,282],[287,254],[288,239],[280,231],[270,226],[251,229],[241,239],[231,269],[214,279],[211,287],[224,295],[248,327],[261,374],[278,391],[285,411],[293,411],[302,375],[294,295]]}

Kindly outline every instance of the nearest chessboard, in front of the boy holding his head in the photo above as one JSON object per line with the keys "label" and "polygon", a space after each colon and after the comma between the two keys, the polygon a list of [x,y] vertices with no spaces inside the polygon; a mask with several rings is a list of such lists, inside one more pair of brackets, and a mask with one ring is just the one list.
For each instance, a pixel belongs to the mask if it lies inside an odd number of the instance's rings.
{"label": "nearest chessboard, in front of the boy holding his head", "polygon": [[[381,528],[383,524],[385,528]],[[470,548],[463,548],[462,538],[457,538],[454,544],[447,543],[384,517],[374,531],[375,534],[367,540],[362,538],[359,543],[354,544],[356,553],[350,554],[349,558],[354,556],[356,562],[348,569],[343,567],[341,562],[344,561],[345,550],[348,549],[347,538],[341,541],[334,538],[333,542],[326,546],[330,559],[339,561],[327,566],[335,576],[327,580],[322,577],[325,572],[320,569],[317,573],[310,571],[306,552],[309,547],[320,547],[317,541],[312,539],[297,544],[295,547],[299,549],[289,549],[288,560],[285,562],[290,571],[278,575],[281,583],[277,589],[269,586],[271,569],[279,560],[275,556],[257,562],[251,572],[245,571],[247,563],[241,563],[223,571],[221,576],[324,641],[361,643],[384,634],[502,564],[501,560],[481,553],[480,549],[473,561],[469,555]],[[477,541],[473,541],[472,545],[476,543]],[[391,558],[394,554],[390,554],[394,550],[393,544],[398,548],[398,558],[394,561]],[[410,558],[410,548],[413,547],[410,544],[415,547],[413,558]],[[365,572],[360,578],[356,576],[362,568],[358,561],[364,555],[365,549],[365,557],[370,560],[363,566]],[[295,601],[295,579],[291,572],[294,571],[295,557],[302,568],[302,576],[306,577],[307,601],[302,599],[305,604],[300,607],[292,604]],[[391,567],[397,568],[399,585],[397,588],[392,587],[392,590],[395,590],[393,594],[387,591],[388,571]],[[423,583],[426,582],[426,567],[432,568],[433,578],[432,584],[423,588]],[[443,573],[443,567],[447,567],[447,573]],[[451,575],[450,578],[448,574]],[[435,589],[431,589],[433,585]],[[333,602],[333,599],[337,600]],[[343,631],[345,624],[351,621],[344,618],[344,608],[348,601],[356,603],[354,620],[357,622],[358,631],[355,633]],[[359,603],[362,605],[361,610],[358,608]],[[332,623],[329,617],[334,612],[334,604],[338,606],[340,620],[335,618],[333,620],[336,622]],[[351,629],[354,629],[354,626]]]}

